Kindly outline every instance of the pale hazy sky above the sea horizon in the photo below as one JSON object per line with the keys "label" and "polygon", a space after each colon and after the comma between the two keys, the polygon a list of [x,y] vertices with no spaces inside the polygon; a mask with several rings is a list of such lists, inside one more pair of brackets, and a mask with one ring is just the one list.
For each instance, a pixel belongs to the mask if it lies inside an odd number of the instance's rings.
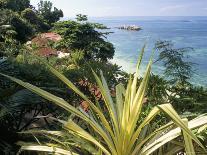
{"label": "pale hazy sky above the sea horizon", "polygon": [[[31,0],[37,6],[40,0]],[[65,17],[207,16],[207,0],[50,0]]]}

